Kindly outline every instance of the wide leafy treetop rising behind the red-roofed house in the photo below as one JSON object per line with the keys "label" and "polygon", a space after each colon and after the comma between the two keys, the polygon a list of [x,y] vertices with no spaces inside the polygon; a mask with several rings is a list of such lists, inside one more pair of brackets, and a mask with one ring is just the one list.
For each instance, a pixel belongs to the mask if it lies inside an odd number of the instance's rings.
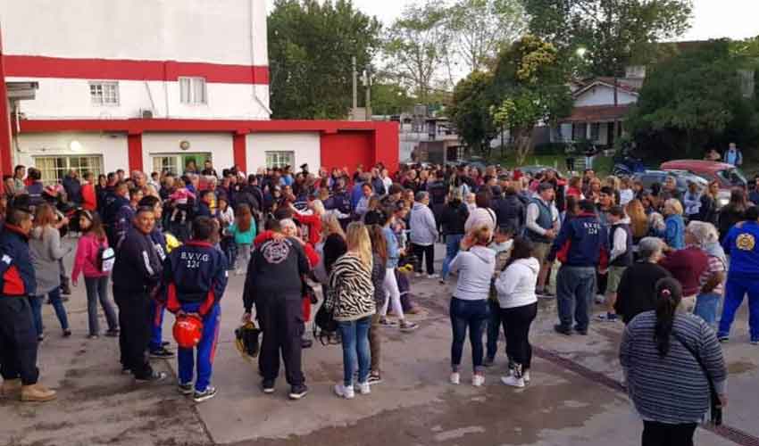
{"label": "wide leafy treetop rising behind the red-roofed house", "polygon": [[651,45],[689,28],[692,0],[521,0],[530,32],[566,53],[585,48],[588,74],[622,76]]}

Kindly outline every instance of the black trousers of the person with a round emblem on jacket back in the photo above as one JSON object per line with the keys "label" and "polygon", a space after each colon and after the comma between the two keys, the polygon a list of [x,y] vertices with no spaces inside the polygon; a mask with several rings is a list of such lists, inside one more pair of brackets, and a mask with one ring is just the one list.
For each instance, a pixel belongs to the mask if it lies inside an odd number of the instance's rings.
{"label": "black trousers of the person with a round emblem on jacket back", "polygon": [[305,326],[301,296],[269,296],[255,303],[255,312],[263,331],[258,367],[264,381],[274,381],[279,376],[281,352],[288,384],[304,384],[301,337]]}

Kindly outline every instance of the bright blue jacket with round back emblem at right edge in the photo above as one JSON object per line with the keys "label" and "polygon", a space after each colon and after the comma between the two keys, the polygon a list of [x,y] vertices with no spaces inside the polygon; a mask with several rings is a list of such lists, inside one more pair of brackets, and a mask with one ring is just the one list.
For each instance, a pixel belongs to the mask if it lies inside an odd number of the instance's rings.
{"label": "bright blue jacket with round back emblem at right edge", "polygon": [[729,277],[759,277],[759,223],[746,221],[732,227],[722,247],[730,256]]}

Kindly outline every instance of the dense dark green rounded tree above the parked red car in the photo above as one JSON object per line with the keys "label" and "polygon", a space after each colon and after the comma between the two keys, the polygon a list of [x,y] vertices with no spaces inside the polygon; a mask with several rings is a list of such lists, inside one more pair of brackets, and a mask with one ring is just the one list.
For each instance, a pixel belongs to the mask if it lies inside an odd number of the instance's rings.
{"label": "dense dark green rounded tree above the parked red car", "polygon": [[727,40],[713,41],[661,62],[646,77],[627,127],[649,154],[700,155],[726,139],[757,135],[755,95],[742,86],[746,59]]}

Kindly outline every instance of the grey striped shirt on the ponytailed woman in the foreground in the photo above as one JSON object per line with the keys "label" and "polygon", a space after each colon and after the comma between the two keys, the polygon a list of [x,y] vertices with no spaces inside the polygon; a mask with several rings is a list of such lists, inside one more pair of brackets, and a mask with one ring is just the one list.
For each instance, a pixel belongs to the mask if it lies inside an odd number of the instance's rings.
{"label": "grey striped shirt on the ponytailed woman in the foreground", "polygon": [[[627,377],[630,400],[645,420],[660,423],[694,423],[709,409],[709,384],[688,349],[671,336],[670,351],[656,350],[655,311],[640,313],[625,328],[620,362]],[[717,336],[703,319],[678,313],[672,332],[688,343],[712,376],[717,392],[724,392],[727,369]]]}

